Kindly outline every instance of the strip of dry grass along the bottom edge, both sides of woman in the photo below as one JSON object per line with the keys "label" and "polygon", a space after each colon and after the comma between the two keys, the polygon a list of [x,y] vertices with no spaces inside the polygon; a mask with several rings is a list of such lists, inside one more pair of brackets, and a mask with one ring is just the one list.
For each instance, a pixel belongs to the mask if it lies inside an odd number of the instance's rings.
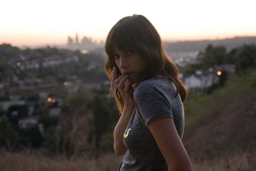
{"label": "strip of dry grass along the bottom edge, both sides of woman", "polygon": [[[256,170],[256,150],[246,150],[243,153],[225,153],[210,159],[203,155],[190,156],[194,165],[194,171],[244,171]],[[54,171],[106,171],[117,170],[121,158],[115,154],[105,154],[96,159],[79,157],[73,161],[67,161],[62,157],[42,157],[22,153],[2,152],[0,155],[1,171],[34,171],[34,170],[54,170]]]}

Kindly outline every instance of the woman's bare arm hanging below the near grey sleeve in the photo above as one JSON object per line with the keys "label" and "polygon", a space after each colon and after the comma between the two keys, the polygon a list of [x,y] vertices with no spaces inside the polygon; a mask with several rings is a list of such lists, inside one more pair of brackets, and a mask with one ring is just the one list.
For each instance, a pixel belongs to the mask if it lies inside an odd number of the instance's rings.
{"label": "woman's bare arm hanging below the near grey sleeve", "polygon": [[169,170],[192,170],[192,163],[180,140],[174,120],[164,117],[150,121],[151,130]]}

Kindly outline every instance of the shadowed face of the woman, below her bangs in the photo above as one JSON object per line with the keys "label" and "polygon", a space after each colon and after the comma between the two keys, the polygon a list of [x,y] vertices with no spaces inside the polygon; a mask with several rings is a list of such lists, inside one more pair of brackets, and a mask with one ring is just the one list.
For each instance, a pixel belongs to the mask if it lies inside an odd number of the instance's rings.
{"label": "shadowed face of the woman, below her bangs", "polygon": [[138,74],[146,68],[146,62],[134,49],[120,51],[116,48],[114,58],[120,72],[128,75],[127,80],[132,84],[136,83]]}

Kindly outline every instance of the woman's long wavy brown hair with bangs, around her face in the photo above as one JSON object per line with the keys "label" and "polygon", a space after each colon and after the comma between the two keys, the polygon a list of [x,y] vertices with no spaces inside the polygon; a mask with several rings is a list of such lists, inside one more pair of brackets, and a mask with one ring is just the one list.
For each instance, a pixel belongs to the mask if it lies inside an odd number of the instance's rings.
{"label": "woman's long wavy brown hair with bangs, around her face", "polygon": [[[111,80],[111,88],[114,86],[112,81],[113,67],[117,69],[117,77],[122,74],[115,63],[115,48],[120,51],[133,48],[146,62],[146,69],[139,73],[136,85],[160,74],[174,82],[177,89],[176,96],[180,94],[182,102],[185,101],[187,91],[184,83],[178,77],[178,68],[165,53],[159,33],[145,16],[134,14],[123,17],[112,27],[106,37],[105,52],[107,58],[104,69]],[[115,87],[115,92],[116,105],[119,111],[122,112],[124,107],[123,98],[117,87]]]}

